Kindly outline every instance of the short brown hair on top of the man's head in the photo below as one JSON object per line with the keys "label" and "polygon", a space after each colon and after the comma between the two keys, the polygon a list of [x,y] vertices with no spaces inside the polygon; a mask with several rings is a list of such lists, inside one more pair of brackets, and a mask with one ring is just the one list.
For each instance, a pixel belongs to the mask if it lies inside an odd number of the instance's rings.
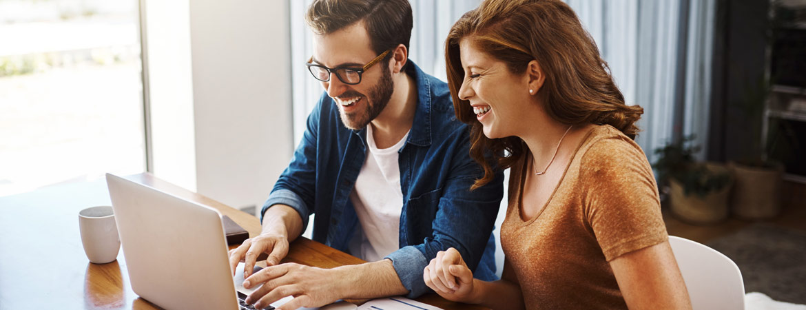
{"label": "short brown hair on top of the man's head", "polygon": [[[409,49],[413,19],[408,0],[316,0],[305,14],[305,23],[317,35],[333,33],[361,20],[377,55],[398,44]],[[384,60],[392,58],[392,54]]]}

